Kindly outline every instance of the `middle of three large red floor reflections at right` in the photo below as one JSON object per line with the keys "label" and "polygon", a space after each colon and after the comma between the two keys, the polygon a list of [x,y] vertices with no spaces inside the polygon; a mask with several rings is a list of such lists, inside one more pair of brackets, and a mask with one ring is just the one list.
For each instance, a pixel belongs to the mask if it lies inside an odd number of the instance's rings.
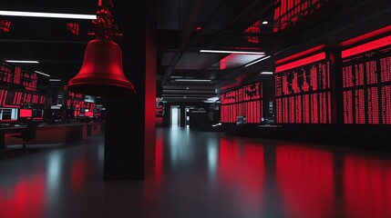
{"label": "middle of three large red floor reflections at right", "polygon": [[276,180],[292,217],[333,217],[333,156],[313,148],[276,148]]}

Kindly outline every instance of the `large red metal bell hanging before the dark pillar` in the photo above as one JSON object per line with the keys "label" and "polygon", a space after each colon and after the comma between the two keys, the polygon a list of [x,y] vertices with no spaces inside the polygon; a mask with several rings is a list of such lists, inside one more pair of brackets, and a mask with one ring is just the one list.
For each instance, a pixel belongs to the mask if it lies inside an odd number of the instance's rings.
{"label": "large red metal bell hanging before the dark pillar", "polygon": [[136,93],[122,68],[118,44],[94,39],[87,44],[78,74],[69,80],[67,90],[77,94],[122,97]]}

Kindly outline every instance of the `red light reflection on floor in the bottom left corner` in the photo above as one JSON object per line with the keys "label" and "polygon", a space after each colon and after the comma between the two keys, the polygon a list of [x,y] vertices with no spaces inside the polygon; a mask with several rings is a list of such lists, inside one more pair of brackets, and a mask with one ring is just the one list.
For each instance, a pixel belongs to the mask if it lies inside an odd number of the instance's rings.
{"label": "red light reflection on floor in the bottom left corner", "polygon": [[42,174],[20,178],[15,186],[0,189],[0,217],[43,217],[45,183]]}

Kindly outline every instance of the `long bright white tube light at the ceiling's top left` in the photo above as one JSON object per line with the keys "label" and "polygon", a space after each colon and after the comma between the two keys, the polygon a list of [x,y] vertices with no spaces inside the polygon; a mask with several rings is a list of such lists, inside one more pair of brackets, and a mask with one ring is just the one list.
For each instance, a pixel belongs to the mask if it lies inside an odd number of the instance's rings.
{"label": "long bright white tube light at the ceiling's top left", "polygon": [[0,11],[0,15],[7,16],[29,16],[47,18],[87,19],[95,20],[97,15],[65,14],[65,13],[44,13],[44,12],[23,12],[23,11]]}

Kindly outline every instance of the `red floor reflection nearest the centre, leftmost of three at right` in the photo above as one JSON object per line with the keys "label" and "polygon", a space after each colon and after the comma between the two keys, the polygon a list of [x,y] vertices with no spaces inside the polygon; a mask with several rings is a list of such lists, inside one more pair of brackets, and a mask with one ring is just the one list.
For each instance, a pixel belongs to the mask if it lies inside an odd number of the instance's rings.
{"label": "red floor reflection nearest the centre, leftmost of three at right", "polygon": [[248,209],[256,210],[262,203],[264,172],[262,145],[242,146],[221,138],[219,178],[224,185],[241,189]]}

